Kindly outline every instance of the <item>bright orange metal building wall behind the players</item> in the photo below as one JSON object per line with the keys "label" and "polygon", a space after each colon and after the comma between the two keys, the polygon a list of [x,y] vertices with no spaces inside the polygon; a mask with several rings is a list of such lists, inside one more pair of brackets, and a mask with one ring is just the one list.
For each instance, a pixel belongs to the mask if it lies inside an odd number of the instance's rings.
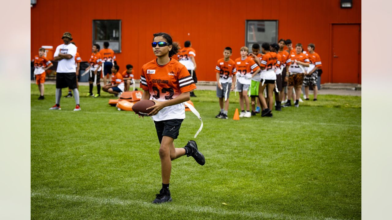
{"label": "bright orange metal building wall behind the players", "polygon": [[330,25],[361,23],[361,1],[353,0],[352,9],[341,9],[340,0],[38,0],[31,8],[31,58],[42,45],[56,48],[62,43],[62,33],[69,31],[82,60],[88,60],[95,19],[122,20],[122,52],[116,55],[120,70],[131,63],[138,78],[142,65],[155,57],[152,34],[163,31],[181,47],[185,40],[192,42],[196,72],[203,81],[215,80],[214,67],[224,47],[232,47],[233,60],[240,56],[245,20],[278,20],[279,39],[290,38],[305,49],[308,43],[316,44],[323,62],[322,83],[326,83],[331,62]]}

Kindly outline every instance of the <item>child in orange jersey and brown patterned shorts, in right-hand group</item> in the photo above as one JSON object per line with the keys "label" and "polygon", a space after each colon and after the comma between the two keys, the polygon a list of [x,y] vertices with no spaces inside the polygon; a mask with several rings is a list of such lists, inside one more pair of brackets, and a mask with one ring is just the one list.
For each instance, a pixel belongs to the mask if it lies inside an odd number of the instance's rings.
{"label": "child in orange jersey and brown patterned shorts, in right-hand group", "polygon": [[[296,101],[294,106],[299,107],[299,96],[301,95],[301,88],[303,83],[303,74],[305,73],[304,67],[309,67],[309,58],[306,54],[302,53],[302,44],[297,43],[296,54],[291,54],[291,64],[289,69],[287,69],[285,81],[288,81],[289,86],[287,88],[288,100],[283,107],[290,107],[291,101],[290,98],[292,95],[292,89],[295,88],[296,92]],[[294,100],[293,100],[294,101]]]}

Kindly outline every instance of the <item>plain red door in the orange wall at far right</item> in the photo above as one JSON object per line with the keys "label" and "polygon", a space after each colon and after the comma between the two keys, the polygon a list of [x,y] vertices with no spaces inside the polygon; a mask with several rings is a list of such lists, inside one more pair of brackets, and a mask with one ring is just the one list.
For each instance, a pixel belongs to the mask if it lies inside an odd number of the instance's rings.
{"label": "plain red door in the orange wall at far right", "polygon": [[360,26],[332,24],[332,83],[360,83]]}

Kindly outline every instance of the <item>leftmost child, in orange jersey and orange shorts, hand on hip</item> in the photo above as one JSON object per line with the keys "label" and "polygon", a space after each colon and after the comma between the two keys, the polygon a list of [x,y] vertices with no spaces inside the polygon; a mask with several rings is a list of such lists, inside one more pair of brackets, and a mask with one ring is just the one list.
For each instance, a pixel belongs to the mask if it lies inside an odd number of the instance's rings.
{"label": "leftmost child, in orange jersey and orange shorts, hand on hip", "polygon": [[36,84],[38,85],[38,90],[40,90],[40,97],[38,97],[39,100],[45,99],[44,83],[46,77],[46,70],[53,66],[53,63],[50,60],[46,59],[44,54],[45,49],[41,47],[40,49],[38,49],[38,55],[34,56],[34,77]]}

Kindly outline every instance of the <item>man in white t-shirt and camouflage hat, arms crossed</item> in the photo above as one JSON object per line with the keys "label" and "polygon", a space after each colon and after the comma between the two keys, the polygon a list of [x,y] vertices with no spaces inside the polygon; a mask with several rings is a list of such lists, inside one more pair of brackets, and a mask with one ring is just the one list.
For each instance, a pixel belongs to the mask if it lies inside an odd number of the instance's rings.
{"label": "man in white t-shirt and camouflage hat, arms crossed", "polygon": [[74,92],[76,102],[74,111],[80,111],[79,91],[76,85],[76,46],[71,43],[72,35],[70,32],[65,32],[62,39],[64,43],[57,46],[53,55],[54,60],[58,61],[56,70],[56,105],[49,108],[49,110],[61,110],[61,89],[69,87]]}

